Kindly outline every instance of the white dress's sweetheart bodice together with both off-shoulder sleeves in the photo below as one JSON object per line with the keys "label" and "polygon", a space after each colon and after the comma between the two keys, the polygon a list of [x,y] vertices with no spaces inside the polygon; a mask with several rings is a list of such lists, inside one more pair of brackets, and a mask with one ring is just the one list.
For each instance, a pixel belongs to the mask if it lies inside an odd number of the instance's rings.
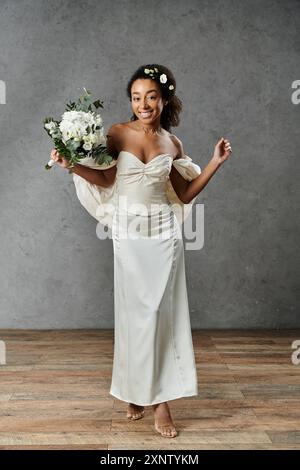
{"label": "white dress's sweetheart bodice together with both off-shoulder sleeves", "polygon": [[[185,204],[177,196],[170,179],[172,166],[187,181],[199,176],[201,168],[188,155],[178,159],[168,153],[162,153],[144,163],[136,155],[126,150],[119,152],[118,159],[109,166],[99,165],[92,157],[86,157],[80,164],[97,170],[117,166],[116,179],[109,187],[89,183],[86,179],[73,173],[76,194],[83,207],[101,224],[112,227],[115,209],[125,197],[127,202],[138,204],[155,211],[155,204],[171,205],[180,224],[187,218],[195,202]],[[152,212],[152,210],[151,210]],[[139,212],[143,213],[143,212]],[[148,212],[149,213],[149,212]]]}

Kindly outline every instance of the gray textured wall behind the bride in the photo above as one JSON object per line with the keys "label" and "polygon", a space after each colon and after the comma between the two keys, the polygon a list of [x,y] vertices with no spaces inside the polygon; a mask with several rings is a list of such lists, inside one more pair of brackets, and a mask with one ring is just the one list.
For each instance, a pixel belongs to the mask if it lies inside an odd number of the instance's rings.
{"label": "gray textured wall behind the bride", "polygon": [[44,170],[42,119],[86,86],[106,128],[128,120],[126,82],[147,62],[176,76],[185,152],[203,168],[221,136],[233,148],[197,199],[204,247],[185,252],[193,328],[300,327],[300,2],[0,5],[0,327],[113,327],[112,241],[97,238],[71,176]]}

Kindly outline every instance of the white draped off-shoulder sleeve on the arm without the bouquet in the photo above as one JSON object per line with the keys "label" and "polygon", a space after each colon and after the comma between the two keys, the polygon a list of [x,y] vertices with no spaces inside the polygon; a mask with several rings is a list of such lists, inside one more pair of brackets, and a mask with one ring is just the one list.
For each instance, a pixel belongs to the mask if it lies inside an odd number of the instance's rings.
{"label": "white draped off-shoulder sleeve on the arm without the bouquet", "polygon": [[[187,181],[192,181],[193,179],[197,178],[197,176],[199,176],[201,173],[200,166],[194,163],[191,157],[189,157],[188,155],[184,155],[182,158],[177,158],[176,160],[173,160],[173,166]],[[168,179],[167,198],[172,204],[172,209],[180,224],[184,222],[184,220],[188,217],[189,213],[191,212],[196,197],[194,197],[194,199],[192,199],[188,204],[184,204],[177,196],[172,186],[171,180]]]}

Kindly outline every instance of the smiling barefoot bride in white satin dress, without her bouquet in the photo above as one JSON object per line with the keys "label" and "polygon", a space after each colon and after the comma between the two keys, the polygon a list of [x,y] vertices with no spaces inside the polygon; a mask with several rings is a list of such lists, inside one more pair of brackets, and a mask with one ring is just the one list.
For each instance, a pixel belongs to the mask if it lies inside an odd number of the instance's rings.
{"label": "smiling barefoot bride in white satin dress, without her bouquet", "polygon": [[[139,67],[128,82],[127,95],[133,116],[107,133],[114,163],[101,170],[76,164],[69,171],[81,203],[95,218],[107,223],[97,210],[105,202],[113,202],[115,208],[110,394],[128,403],[127,417],[132,420],[142,418],[144,407],[151,405],[155,430],[175,437],[168,400],[197,395],[198,389],[180,219],[170,201],[177,198],[182,206],[191,207],[228,159],[231,146],[222,138],[202,172],[184,154],[181,141],[170,133],[171,126],[179,124],[181,101],[175,78],[165,66]],[[69,168],[55,149],[51,157]]]}

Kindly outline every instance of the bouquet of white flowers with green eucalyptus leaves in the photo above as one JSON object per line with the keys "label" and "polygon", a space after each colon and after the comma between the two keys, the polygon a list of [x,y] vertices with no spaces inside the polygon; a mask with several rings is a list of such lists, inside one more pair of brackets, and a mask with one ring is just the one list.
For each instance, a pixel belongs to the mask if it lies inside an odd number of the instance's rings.
{"label": "bouquet of white flowers with green eucalyptus leaves", "polygon": [[[44,119],[44,129],[52,138],[58,153],[69,161],[69,165],[75,165],[86,157],[92,157],[99,165],[109,164],[113,158],[104,145],[102,118],[97,113],[98,108],[103,108],[103,102],[93,102],[91,92],[83,89],[84,93],[77,101],[66,105],[61,121],[52,117]],[[52,168],[54,163],[51,159],[45,165],[46,170]]]}

